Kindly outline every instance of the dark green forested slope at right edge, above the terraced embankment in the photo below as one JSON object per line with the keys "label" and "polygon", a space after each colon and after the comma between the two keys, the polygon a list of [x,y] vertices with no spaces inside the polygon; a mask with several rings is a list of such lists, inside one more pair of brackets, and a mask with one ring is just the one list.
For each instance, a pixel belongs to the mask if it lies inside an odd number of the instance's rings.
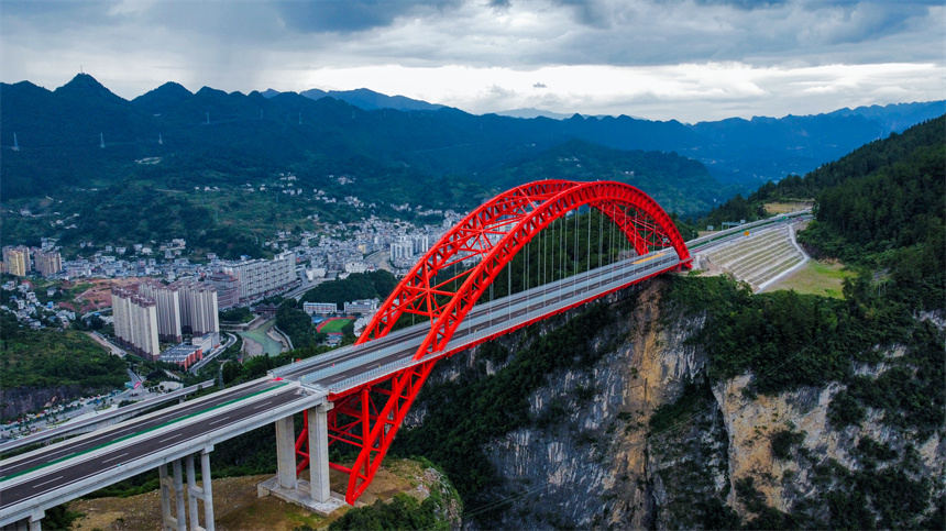
{"label": "dark green forested slope at right edge, above the terraced embankment", "polygon": [[824,186],[803,244],[889,274],[879,287],[905,309],[946,307],[946,117],[867,145],[809,179]]}

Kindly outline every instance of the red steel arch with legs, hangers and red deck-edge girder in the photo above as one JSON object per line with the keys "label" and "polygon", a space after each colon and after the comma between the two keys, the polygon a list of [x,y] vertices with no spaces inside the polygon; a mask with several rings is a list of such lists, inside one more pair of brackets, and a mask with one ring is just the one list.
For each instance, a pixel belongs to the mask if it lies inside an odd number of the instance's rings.
{"label": "red steel arch with legs, hangers and red deck-edge girder", "polygon": [[[652,268],[645,277],[612,285],[607,290],[588,291],[586,297],[558,305],[554,311],[541,317],[529,319],[528,312],[524,312],[524,319],[508,319],[509,327],[482,335],[474,343],[466,342],[462,349],[544,319],[550,313],[580,306],[644,278],[690,266],[690,253],[670,217],[653,199],[623,182],[542,180],[513,188],[481,204],[427,251],[384,301],[358,341],[361,344],[385,338],[407,320],[414,322],[420,318],[421,321],[429,321],[429,332],[420,341],[413,358],[406,361],[409,362],[405,364],[407,366],[373,379],[370,375],[362,377],[362,383],[343,390],[332,388],[329,394],[329,401],[334,407],[327,413],[328,443],[354,446],[359,452],[353,466],[329,463],[331,468],[349,475],[345,493],[349,504],[353,504],[371,483],[433,365],[455,352],[449,346],[451,339],[462,328],[464,318],[476,301],[491,291],[504,268],[508,277],[507,289],[512,290],[513,268],[506,266],[520,251],[532,241],[539,245],[536,269],[541,268],[541,273],[535,270],[528,277],[535,275],[548,279],[549,268],[557,265],[549,266],[548,250],[556,245],[573,245],[569,259],[574,262],[575,268],[591,268],[591,239],[584,250],[578,239],[564,241],[565,234],[572,239],[578,236],[579,231],[585,230],[584,225],[578,226],[579,217],[572,215],[582,208],[594,209],[601,214],[596,219],[585,217],[588,234],[596,231],[600,246],[603,246],[603,231],[607,231],[609,251],[615,248],[617,239],[617,248],[624,248],[619,253],[626,257],[624,264],[647,259],[657,263],[667,256],[670,259],[663,263],[669,265]],[[575,230],[566,232],[571,229],[570,219],[574,220],[572,223]],[[607,225],[605,220],[609,221]],[[595,224],[597,226],[592,226]],[[543,233],[549,228],[552,228],[551,237],[548,231]],[[560,230],[556,232],[556,229]],[[579,257],[582,251],[587,256],[583,265]],[[601,265],[602,255],[598,252],[596,254]],[[546,267],[541,264],[542,256],[546,257]],[[552,259],[558,259],[559,266],[570,265],[562,253],[552,253],[552,256],[558,256]],[[530,265],[524,264],[526,268]],[[560,285],[566,281],[559,279]],[[501,312],[502,308],[505,307],[499,306]],[[509,310],[512,313],[512,307]],[[296,441],[297,472],[309,464],[308,417]]]}

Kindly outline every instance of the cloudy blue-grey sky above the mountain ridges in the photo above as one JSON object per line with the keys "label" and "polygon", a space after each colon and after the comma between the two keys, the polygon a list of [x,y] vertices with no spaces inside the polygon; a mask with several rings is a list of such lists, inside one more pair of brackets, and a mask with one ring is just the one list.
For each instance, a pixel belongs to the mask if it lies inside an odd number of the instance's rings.
{"label": "cloudy blue-grey sky above the mountain ridges", "polygon": [[[0,80],[682,122],[946,99],[942,0],[3,0]],[[2,96],[0,96],[2,97]]]}

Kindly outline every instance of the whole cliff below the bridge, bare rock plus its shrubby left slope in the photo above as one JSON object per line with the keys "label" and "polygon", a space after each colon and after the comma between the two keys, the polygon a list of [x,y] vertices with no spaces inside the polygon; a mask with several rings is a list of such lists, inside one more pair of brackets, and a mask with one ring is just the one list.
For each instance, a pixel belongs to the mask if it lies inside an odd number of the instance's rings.
{"label": "whole cliff below the bridge, bare rock plus its shrubby left slope", "polygon": [[[712,377],[712,323],[668,300],[673,281],[441,362],[399,451],[447,468],[474,528],[938,526],[942,422],[866,408],[842,427],[845,381],[761,395],[751,372]],[[855,373],[902,367],[903,349],[880,354]]]}

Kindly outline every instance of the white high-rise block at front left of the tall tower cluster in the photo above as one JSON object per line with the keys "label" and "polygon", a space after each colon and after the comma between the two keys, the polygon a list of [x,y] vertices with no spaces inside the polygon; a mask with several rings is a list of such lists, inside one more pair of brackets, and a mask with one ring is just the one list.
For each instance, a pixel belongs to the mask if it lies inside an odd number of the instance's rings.
{"label": "white high-rise block at front left of the tall tower cluster", "polygon": [[158,358],[157,305],[134,287],[112,288],[112,314],[119,344],[151,361]]}

